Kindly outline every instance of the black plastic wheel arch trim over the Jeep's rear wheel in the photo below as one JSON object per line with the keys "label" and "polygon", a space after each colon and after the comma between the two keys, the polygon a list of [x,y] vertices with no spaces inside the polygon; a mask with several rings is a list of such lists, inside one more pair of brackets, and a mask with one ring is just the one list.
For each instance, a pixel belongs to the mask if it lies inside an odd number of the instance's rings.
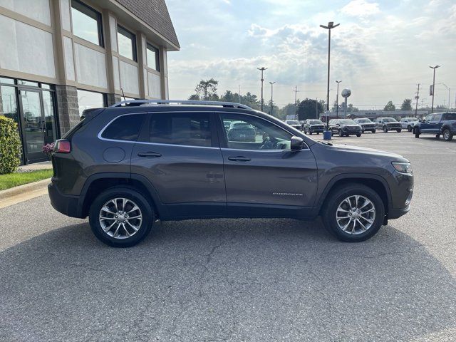
{"label": "black plastic wheel arch trim over the Jeep's rear wheel", "polygon": [[153,187],[147,178],[142,175],[130,173],[98,173],[91,175],[86,180],[81,191],[81,196],[78,201],[78,211],[80,217],[87,217],[90,209],[90,204],[100,192],[110,187],[133,187],[135,190],[144,195],[153,207],[155,214],[160,217],[165,214],[165,206],[158,197],[157,190]]}

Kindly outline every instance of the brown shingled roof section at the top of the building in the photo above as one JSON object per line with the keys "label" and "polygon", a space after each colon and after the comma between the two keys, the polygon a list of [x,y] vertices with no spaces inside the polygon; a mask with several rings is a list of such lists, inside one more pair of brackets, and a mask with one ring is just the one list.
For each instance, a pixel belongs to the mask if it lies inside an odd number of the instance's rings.
{"label": "brown shingled roof section at the top of the building", "polygon": [[145,21],[147,25],[162,34],[171,43],[180,48],[176,31],[172,25],[165,0],[116,0],[128,11]]}

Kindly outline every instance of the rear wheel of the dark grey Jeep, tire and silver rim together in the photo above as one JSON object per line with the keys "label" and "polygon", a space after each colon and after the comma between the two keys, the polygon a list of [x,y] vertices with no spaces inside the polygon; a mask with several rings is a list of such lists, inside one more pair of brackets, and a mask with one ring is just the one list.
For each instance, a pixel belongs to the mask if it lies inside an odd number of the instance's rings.
{"label": "rear wheel of the dark grey Jeep, tire and silver rim together", "polygon": [[93,234],[112,247],[132,247],[147,237],[154,211],[143,195],[130,187],[112,187],[90,206]]}

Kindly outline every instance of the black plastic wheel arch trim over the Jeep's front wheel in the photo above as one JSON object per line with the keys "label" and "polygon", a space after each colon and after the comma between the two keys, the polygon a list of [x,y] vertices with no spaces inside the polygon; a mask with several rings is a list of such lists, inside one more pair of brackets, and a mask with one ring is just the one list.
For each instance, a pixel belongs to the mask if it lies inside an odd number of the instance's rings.
{"label": "black plastic wheel arch trim over the Jeep's front wheel", "polygon": [[368,174],[345,174],[333,177],[333,179],[328,182],[328,185],[326,185],[325,190],[323,190],[323,193],[318,199],[318,214],[321,214],[324,204],[328,200],[329,196],[331,196],[331,192],[334,192],[338,189],[338,187],[349,183],[366,185],[377,192],[385,206],[385,215],[388,217],[391,204],[391,193],[388,183],[383,177]]}

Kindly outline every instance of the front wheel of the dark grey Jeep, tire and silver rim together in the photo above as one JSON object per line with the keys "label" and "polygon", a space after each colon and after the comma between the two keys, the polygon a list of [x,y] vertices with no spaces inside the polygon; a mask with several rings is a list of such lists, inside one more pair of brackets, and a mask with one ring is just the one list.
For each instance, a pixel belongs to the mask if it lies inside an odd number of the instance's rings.
{"label": "front wheel of the dark grey Jeep, tire and silver rim together", "polygon": [[385,207],[377,192],[366,185],[351,183],[331,192],[323,207],[323,222],[338,239],[361,242],[380,229]]}

